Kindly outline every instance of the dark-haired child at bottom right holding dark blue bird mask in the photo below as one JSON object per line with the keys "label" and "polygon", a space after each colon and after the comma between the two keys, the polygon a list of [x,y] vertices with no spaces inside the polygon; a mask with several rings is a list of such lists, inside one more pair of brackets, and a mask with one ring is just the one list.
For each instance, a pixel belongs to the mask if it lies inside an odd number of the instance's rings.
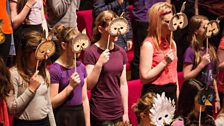
{"label": "dark-haired child at bottom right holding dark blue bird mask", "polygon": [[199,103],[199,94],[204,88],[205,84],[196,79],[184,81],[177,104],[177,115],[179,117],[178,120],[173,122],[172,126],[182,126],[180,123],[175,125],[180,118],[184,122],[182,123],[184,126],[199,125],[200,113],[202,126],[214,126],[214,119],[207,114],[206,106]]}

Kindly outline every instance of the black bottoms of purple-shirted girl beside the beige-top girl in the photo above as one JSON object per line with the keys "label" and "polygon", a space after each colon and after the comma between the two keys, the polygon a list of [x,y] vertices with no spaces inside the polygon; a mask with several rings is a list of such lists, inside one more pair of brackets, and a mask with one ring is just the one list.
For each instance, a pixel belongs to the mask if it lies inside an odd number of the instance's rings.
{"label": "black bottoms of purple-shirted girl beside the beige-top girl", "polygon": [[57,126],[85,126],[85,117],[81,105],[62,106],[54,110]]}

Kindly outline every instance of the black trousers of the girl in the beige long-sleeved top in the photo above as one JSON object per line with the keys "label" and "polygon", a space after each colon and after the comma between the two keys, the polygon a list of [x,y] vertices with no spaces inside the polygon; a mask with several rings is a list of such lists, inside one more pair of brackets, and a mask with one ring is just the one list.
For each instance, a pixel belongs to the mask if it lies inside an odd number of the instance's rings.
{"label": "black trousers of the girl in the beige long-sleeved top", "polygon": [[50,126],[49,118],[41,120],[20,120],[13,119],[13,126]]}

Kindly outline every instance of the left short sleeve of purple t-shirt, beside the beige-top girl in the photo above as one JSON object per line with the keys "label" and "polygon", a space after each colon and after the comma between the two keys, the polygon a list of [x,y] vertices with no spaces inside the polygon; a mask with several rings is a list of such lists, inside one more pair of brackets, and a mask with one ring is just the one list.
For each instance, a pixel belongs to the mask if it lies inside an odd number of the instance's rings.
{"label": "left short sleeve of purple t-shirt, beside the beige-top girl", "polygon": [[51,84],[53,83],[59,83],[60,81],[60,70],[57,68],[55,64],[52,64],[49,68],[49,73],[50,73],[50,81]]}

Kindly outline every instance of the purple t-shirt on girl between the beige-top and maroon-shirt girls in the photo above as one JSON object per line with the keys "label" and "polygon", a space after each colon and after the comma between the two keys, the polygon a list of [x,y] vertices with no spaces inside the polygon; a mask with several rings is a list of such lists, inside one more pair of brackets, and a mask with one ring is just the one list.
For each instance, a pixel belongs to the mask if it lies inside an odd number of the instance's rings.
{"label": "purple t-shirt on girl between the beige-top and maroon-shirt girls", "polygon": [[[65,101],[65,105],[82,104],[82,87],[84,85],[84,79],[87,76],[87,72],[85,66],[80,61],[77,61],[76,63],[76,71],[79,74],[81,82]],[[51,84],[58,83],[58,92],[61,92],[69,84],[70,76],[75,72],[75,68],[65,68],[55,62],[50,66],[49,72],[51,75]]]}

